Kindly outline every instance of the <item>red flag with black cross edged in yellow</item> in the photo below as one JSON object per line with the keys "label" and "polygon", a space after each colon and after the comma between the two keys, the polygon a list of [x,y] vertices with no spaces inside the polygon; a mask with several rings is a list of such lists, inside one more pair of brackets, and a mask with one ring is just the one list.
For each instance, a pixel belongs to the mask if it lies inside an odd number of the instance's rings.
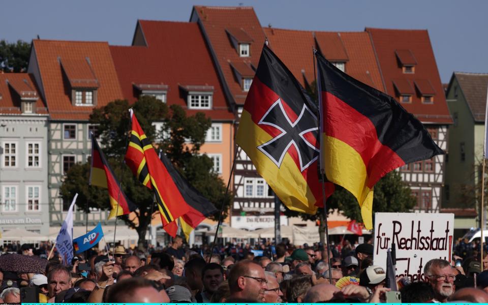
{"label": "red flag with black cross edged in yellow", "polygon": [[175,226],[169,224],[186,214],[189,206],[174,184],[171,175],[159,160],[153,145],[144,134],[132,110],[131,118],[132,130],[129,147],[127,147],[126,164],[143,185],[153,189],[163,228],[174,237],[176,236]]}

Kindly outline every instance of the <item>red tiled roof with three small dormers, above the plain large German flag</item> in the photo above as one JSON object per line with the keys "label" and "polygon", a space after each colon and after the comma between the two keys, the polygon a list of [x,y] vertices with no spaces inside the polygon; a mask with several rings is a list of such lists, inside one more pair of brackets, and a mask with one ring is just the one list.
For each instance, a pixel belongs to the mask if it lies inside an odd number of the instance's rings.
{"label": "red tiled roof with three small dormers, above the plain large German flag", "polygon": [[[422,123],[451,124],[452,118],[447,108],[429,33],[426,30],[379,28],[366,28],[365,31],[371,35],[385,81],[386,93],[399,98],[394,90],[394,83],[398,79],[408,80],[411,84],[415,81],[418,83],[422,80],[429,80],[435,92],[433,103],[423,104],[421,95],[415,94],[412,96],[411,104],[405,103],[402,106],[414,114]],[[399,50],[410,50],[413,54],[416,61],[414,73],[403,73],[402,63],[398,59]],[[412,58],[405,58],[404,56],[407,52],[401,51],[400,54],[402,60],[405,60],[406,63],[412,63]],[[431,89],[426,90],[430,91]]]}

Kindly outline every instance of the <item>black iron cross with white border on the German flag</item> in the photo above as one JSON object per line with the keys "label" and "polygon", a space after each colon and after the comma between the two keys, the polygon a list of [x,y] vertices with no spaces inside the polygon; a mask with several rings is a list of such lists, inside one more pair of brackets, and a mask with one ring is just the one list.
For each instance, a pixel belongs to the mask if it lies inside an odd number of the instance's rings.
{"label": "black iron cross with white border on the German flag", "polygon": [[285,112],[281,99],[269,107],[258,125],[269,125],[281,131],[281,134],[257,148],[276,166],[280,167],[291,145],[295,146],[300,161],[300,171],[306,170],[319,156],[319,149],[310,143],[304,135],[312,133],[317,140],[318,121],[310,109],[303,104],[298,118],[292,122]]}

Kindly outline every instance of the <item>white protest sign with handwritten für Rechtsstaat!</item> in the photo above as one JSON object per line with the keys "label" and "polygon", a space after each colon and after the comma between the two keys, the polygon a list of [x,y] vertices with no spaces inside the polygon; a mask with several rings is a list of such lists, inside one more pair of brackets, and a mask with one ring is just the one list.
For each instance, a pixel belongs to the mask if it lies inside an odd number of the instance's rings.
{"label": "white protest sign with handwritten f\u00fcr Rechtsstaat!", "polygon": [[374,264],[386,269],[391,243],[396,247],[396,277],[423,280],[425,263],[434,258],[451,261],[454,214],[376,213]]}

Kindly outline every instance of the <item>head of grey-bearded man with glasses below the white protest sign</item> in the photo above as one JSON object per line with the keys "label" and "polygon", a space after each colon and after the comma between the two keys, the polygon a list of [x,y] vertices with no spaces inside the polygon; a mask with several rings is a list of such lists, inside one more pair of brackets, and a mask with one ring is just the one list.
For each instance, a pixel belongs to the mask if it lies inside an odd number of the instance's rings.
{"label": "head of grey-bearded man with glasses below the white protest sign", "polygon": [[454,293],[457,272],[453,269],[448,261],[437,258],[428,261],[423,268],[425,282],[431,284],[435,299],[439,302],[445,302]]}

